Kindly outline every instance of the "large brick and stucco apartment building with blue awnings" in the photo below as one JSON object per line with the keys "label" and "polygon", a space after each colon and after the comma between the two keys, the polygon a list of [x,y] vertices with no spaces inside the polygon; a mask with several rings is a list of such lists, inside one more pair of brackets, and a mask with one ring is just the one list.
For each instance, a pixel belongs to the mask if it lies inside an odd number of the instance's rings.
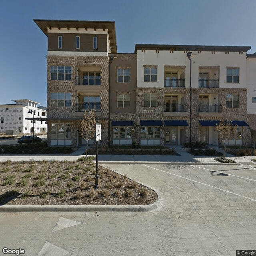
{"label": "large brick and stucco apartment building with blue awnings", "polygon": [[136,44],[117,53],[114,22],[34,20],[48,37],[48,144],[84,144],[79,122],[94,109],[103,146],[249,145],[256,131],[256,55],[249,46]]}

